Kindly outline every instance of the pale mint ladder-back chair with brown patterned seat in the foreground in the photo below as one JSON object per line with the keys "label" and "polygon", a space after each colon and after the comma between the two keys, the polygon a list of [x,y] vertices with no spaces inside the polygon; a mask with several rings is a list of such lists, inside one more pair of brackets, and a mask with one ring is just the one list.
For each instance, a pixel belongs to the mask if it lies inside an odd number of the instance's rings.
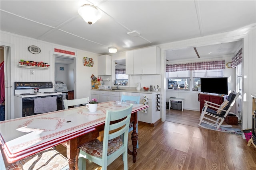
{"label": "pale mint ladder-back chair with brown patterned seat in the foreground", "polygon": [[[124,169],[128,170],[128,128],[131,113],[132,104],[122,110],[107,110],[103,142],[95,139],[80,148],[78,169],[86,170],[86,159],[88,159],[102,166],[102,170],[106,170],[110,163],[122,155]],[[118,121],[120,119],[122,121]],[[114,121],[114,123],[110,125],[110,121]],[[118,128],[120,128],[118,131],[109,134],[110,131]],[[124,135],[123,140],[121,139],[122,135]]]}

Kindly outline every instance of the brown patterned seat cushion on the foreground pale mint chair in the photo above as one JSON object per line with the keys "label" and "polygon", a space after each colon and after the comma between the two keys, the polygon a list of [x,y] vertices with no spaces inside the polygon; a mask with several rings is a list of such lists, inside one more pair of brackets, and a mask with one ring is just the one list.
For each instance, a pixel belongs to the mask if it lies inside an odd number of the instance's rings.
{"label": "brown patterned seat cushion on the foreground pale mint chair", "polygon": [[[108,155],[112,154],[120,147],[122,147],[123,142],[120,137],[116,137],[108,141]],[[87,142],[84,146],[80,148],[84,152],[101,158],[102,157],[102,149],[103,149],[103,141],[100,142],[98,139],[94,139],[92,141]]]}

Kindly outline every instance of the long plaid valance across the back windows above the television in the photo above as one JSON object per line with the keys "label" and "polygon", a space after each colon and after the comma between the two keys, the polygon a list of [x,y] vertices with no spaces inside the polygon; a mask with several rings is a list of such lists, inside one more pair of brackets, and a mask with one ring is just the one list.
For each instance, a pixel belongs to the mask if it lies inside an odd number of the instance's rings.
{"label": "long plaid valance across the back windows above the television", "polygon": [[166,72],[186,71],[186,70],[217,70],[225,68],[223,61],[204,61],[186,64],[166,64]]}

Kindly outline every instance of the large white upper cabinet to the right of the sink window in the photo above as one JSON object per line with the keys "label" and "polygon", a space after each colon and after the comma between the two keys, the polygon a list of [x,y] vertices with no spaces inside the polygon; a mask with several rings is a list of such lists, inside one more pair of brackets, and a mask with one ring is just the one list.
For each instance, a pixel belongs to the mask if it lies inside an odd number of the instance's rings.
{"label": "large white upper cabinet to the right of the sink window", "polygon": [[160,74],[160,48],[127,51],[126,74]]}

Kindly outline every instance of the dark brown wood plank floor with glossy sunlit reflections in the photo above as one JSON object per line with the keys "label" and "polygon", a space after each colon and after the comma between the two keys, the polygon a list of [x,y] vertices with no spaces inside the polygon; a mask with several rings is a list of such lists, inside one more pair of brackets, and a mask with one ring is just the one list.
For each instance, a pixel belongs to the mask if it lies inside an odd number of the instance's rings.
{"label": "dark brown wood plank floor with glossy sunlit reflections", "polygon": [[[165,121],[155,127],[139,123],[138,137],[137,162],[128,155],[130,170],[256,169],[256,148],[248,147],[246,140],[237,135]],[[131,148],[131,142],[129,145]],[[65,154],[62,146],[57,149]],[[87,170],[99,169],[87,160]],[[122,170],[122,156],[108,169]]]}

